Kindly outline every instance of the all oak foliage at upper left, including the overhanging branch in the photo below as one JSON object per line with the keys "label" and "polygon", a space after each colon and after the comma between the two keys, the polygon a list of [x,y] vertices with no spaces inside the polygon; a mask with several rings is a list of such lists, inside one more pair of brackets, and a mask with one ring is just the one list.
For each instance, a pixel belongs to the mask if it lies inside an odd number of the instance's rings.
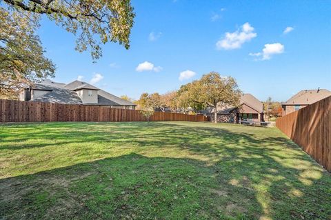
{"label": "all oak foliage at upper left, including the overhanging branch", "polygon": [[41,16],[77,36],[76,50],[101,57],[101,44],[130,47],[130,0],[3,0],[0,5],[0,98],[17,97],[23,85],[54,77],[36,34]]}

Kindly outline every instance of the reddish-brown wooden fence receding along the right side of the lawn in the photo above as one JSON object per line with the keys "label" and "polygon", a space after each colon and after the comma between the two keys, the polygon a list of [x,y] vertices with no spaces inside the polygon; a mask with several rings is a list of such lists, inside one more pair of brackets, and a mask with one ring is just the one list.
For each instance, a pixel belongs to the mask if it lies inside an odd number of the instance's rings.
{"label": "reddish-brown wooden fence receding along the right side of the lawn", "polygon": [[331,172],[331,96],[277,119],[276,126]]}

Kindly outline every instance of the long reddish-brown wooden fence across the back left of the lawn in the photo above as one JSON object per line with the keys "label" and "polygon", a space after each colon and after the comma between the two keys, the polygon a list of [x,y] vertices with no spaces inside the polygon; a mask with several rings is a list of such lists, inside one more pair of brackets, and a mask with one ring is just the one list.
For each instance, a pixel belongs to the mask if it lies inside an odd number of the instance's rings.
{"label": "long reddish-brown wooden fence across the back left of the lawn", "polygon": [[[0,99],[0,122],[147,121],[139,110]],[[150,121],[207,121],[203,115],[154,112]]]}

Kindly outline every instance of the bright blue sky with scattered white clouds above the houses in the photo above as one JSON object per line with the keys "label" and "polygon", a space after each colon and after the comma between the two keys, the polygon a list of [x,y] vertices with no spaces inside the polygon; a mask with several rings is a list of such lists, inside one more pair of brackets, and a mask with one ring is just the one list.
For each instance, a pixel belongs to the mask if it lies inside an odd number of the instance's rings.
{"label": "bright blue sky with scattered white clouds above the houses", "polygon": [[39,34],[57,65],[54,81],[94,77],[99,88],[134,99],[142,92],[176,90],[210,71],[234,77],[243,92],[261,101],[286,101],[303,89],[331,90],[331,1],[132,5],[137,15],[130,50],[107,43],[97,63],[89,52],[74,50],[72,34],[43,19]]}

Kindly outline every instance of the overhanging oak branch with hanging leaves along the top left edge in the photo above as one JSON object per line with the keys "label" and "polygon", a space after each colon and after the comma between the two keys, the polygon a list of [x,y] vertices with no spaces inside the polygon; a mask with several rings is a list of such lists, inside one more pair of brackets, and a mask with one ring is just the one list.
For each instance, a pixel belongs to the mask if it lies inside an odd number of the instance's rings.
{"label": "overhanging oak branch with hanging leaves along the top left edge", "polygon": [[88,48],[92,58],[101,56],[101,43],[118,42],[130,48],[134,12],[130,0],[3,0],[7,10],[39,21],[45,14],[68,32],[77,35],[76,49]]}

